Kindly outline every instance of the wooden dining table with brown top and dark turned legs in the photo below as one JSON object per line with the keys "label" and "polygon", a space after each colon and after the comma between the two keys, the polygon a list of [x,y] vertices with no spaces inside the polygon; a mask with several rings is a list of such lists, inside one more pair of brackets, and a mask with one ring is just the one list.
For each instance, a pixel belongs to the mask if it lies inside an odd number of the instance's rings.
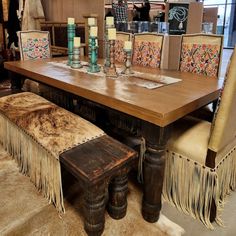
{"label": "wooden dining table with brown top and dark turned legs", "polygon": [[141,135],[146,140],[142,215],[148,222],[156,222],[161,210],[165,148],[171,125],[216,100],[222,80],[187,72],[133,67],[143,74],[180,79],[160,88],[147,89],[125,83],[119,77],[106,78],[55,65],[63,60],[65,58],[12,61],[6,62],[4,67],[11,72],[13,90],[21,87],[21,75],[141,121]]}

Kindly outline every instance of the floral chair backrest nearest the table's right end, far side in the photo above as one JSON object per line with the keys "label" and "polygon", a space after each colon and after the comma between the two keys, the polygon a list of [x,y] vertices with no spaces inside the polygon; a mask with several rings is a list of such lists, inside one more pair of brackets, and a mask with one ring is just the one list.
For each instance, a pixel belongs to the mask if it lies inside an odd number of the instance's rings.
{"label": "floral chair backrest nearest the table's right end, far side", "polygon": [[218,77],[222,46],[222,35],[182,35],[180,71]]}

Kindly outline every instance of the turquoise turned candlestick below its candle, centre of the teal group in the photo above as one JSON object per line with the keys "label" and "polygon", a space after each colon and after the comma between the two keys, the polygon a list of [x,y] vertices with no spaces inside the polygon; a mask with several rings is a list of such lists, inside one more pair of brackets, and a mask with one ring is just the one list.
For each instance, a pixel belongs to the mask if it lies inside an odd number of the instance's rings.
{"label": "turquoise turned candlestick below its candle, centre of the teal group", "polygon": [[96,38],[97,37],[92,37],[90,36],[90,61],[89,61],[89,68],[88,72],[90,73],[96,73],[100,71],[100,67],[97,64],[97,48],[98,46],[96,45]]}

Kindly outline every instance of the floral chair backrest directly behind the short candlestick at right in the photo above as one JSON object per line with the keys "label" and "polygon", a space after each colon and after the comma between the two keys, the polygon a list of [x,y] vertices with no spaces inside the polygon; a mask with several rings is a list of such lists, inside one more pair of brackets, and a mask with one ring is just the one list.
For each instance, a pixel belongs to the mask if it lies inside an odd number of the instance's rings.
{"label": "floral chair backrest directly behind the short candlestick at right", "polygon": [[156,33],[134,34],[134,65],[160,68],[164,35]]}

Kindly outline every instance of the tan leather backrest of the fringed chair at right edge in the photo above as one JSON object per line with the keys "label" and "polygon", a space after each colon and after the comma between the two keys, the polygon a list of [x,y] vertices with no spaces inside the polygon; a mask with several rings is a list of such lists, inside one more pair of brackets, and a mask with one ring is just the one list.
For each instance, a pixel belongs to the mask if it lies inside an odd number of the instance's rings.
{"label": "tan leather backrest of the fringed chair at right edge", "polygon": [[236,139],[236,49],[231,56],[224,86],[212,122],[208,149],[219,152]]}

